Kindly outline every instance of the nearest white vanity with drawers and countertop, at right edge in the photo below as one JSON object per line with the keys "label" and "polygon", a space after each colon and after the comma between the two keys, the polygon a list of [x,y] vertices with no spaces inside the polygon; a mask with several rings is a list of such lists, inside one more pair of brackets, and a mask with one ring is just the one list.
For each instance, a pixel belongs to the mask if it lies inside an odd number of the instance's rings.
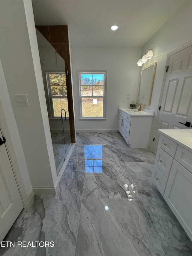
{"label": "nearest white vanity with drawers and countertop, at right edge", "polygon": [[152,181],[192,240],[192,130],[159,132]]}

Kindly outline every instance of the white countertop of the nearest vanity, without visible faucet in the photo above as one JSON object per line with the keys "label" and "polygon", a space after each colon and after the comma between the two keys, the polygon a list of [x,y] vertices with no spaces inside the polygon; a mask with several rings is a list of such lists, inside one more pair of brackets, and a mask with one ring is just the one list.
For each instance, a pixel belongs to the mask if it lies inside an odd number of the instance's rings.
{"label": "white countertop of the nearest vanity, without visible faucet", "polygon": [[192,130],[173,129],[158,130],[158,132],[192,152]]}

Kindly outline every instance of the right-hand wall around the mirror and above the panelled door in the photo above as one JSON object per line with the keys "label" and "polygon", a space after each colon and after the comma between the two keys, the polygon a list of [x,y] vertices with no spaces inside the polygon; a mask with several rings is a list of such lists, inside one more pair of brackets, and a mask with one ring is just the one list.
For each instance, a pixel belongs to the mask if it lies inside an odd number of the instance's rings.
{"label": "right-hand wall around the mirror and above the panelled door", "polygon": [[[146,65],[156,61],[157,69],[153,86],[152,101],[150,110],[155,110],[156,116],[159,108],[159,98],[165,73],[165,64],[167,54],[181,45],[192,40],[192,1],[188,0],[159,30],[154,36],[143,46],[142,55],[152,49],[154,56],[142,65],[140,70]],[[152,140],[155,136],[156,116],[153,119],[152,131],[149,144],[152,148]]]}

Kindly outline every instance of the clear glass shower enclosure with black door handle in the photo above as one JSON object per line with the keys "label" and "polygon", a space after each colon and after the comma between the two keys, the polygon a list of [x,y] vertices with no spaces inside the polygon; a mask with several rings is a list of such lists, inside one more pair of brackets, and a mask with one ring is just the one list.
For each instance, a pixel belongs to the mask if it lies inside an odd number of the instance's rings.
{"label": "clear glass shower enclosure with black door handle", "polygon": [[36,29],[57,175],[71,147],[65,61]]}

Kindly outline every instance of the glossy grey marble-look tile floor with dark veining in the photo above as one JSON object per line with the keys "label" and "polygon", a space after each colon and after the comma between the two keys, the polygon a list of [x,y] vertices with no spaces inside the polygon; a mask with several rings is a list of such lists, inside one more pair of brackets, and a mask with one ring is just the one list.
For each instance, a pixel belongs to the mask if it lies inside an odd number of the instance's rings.
{"label": "glossy grey marble-look tile floor with dark veining", "polygon": [[0,248],[0,255],[192,255],[192,242],[150,181],[154,159],[119,133],[77,134],[58,195],[36,196],[5,238],[55,246]]}

